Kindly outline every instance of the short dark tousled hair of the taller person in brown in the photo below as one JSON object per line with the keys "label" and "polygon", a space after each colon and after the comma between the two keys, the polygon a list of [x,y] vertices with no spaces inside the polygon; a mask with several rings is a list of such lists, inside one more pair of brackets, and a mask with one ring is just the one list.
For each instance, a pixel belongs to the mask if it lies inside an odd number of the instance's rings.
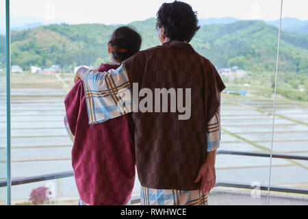
{"label": "short dark tousled hair of the taller person in brown", "polygon": [[170,40],[190,42],[198,26],[197,13],[192,7],[181,1],[163,3],[157,12],[156,28],[164,27],[166,37]]}

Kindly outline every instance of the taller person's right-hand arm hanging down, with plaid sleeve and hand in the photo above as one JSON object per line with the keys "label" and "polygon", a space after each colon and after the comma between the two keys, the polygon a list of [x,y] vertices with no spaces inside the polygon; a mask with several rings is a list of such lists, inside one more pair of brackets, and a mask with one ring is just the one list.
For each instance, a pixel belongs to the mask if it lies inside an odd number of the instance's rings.
{"label": "taller person's right-hand arm hanging down, with plaid sleeve and hand", "polygon": [[219,110],[207,125],[207,157],[201,166],[198,177],[194,181],[197,183],[202,178],[201,192],[209,193],[216,183],[215,160],[216,151],[220,146],[220,114]]}

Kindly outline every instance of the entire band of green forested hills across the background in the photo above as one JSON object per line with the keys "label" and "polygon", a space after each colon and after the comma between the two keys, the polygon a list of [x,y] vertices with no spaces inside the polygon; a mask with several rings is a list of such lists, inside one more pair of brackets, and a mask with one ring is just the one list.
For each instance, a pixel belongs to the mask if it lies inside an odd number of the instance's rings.
{"label": "entire band of green forested hills across the background", "polygon": [[[142,34],[142,49],[160,44],[155,19],[130,25]],[[49,25],[24,31],[12,31],[12,64],[62,67],[97,64],[109,60],[107,41],[116,25]],[[238,21],[229,24],[203,25],[192,46],[209,58],[217,68],[239,66],[246,70],[274,70],[278,28],[263,21]],[[3,38],[3,36],[1,37]],[[0,40],[1,40],[0,38]],[[5,47],[3,47],[5,48]],[[0,47],[0,59],[5,49]],[[308,34],[283,31],[279,69],[308,73]]]}

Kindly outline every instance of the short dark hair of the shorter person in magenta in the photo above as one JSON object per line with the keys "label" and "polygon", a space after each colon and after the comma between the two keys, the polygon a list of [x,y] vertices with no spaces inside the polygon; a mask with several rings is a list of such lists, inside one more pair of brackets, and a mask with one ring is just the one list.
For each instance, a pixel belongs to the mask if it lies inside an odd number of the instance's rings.
{"label": "short dark hair of the shorter person in magenta", "polygon": [[114,59],[123,62],[140,51],[142,38],[131,27],[118,27],[108,42]]}

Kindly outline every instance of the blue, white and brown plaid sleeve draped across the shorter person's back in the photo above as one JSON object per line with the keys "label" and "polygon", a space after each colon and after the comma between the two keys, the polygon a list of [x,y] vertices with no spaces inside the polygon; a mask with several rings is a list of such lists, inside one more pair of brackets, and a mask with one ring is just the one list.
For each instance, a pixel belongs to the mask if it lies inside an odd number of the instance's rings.
{"label": "blue, white and brown plaid sleeve draped across the shorter person's back", "polygon": [[90,125],[132,112],[132,95],[124,65],[103,73],[89,69],[84,74],[84,90]]}

